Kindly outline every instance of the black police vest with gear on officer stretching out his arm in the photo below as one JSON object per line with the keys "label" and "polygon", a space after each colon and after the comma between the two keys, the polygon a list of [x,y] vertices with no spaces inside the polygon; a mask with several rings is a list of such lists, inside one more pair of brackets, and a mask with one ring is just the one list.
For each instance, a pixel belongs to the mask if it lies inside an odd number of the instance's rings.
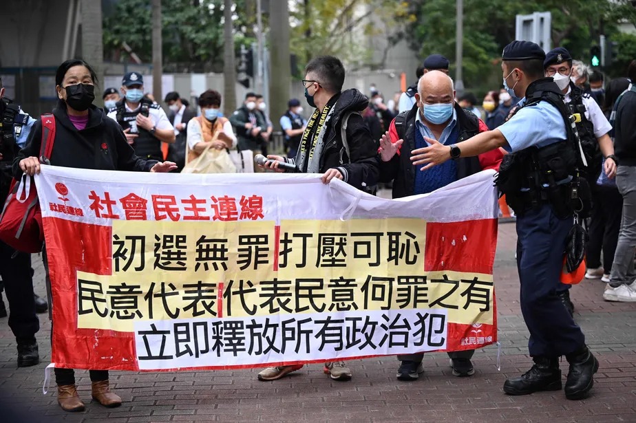
{"label": "black police vest with gear on officer stretching out his arm", "polygon": [[549,102],[561,114],[566,140],[546,147],[528,147],[504,156],[496,185],[508,205],[519,216],[528,210],[551,204],[555,215],[564,219],[577,214],[586,217],[591,209],[589,184],[580,177],[580,142],[563,94],[552,78],[531,83],[523,107]]}

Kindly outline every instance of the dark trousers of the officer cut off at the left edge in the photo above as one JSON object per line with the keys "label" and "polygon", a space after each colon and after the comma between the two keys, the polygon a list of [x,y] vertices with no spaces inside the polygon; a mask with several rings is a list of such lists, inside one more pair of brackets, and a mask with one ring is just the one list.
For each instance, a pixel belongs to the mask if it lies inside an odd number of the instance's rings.
{"label": "dark trousers of the officer cut off at the left edge", "polygon": [[35,314],[31,254],[16,252],[0,241],[0,275],[10,307],[9,327],[16,338],[33,338],[40,321]]}

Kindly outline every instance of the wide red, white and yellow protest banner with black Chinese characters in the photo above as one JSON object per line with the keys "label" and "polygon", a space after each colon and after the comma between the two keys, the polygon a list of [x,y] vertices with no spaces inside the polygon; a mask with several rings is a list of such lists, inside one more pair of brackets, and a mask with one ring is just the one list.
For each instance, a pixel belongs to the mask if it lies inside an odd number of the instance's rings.
{"label": "wide red, white and yellow protest banner with black Chinese characters", "polygon": [[318,175],[42,166],[52,362],[228,369],[494,343],[493,174],[387,200]]}

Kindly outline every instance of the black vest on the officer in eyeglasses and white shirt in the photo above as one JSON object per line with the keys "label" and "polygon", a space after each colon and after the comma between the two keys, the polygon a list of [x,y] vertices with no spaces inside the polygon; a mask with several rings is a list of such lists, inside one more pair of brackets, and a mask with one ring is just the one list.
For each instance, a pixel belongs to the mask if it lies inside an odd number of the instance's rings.
{"label": "black vest on the officer in eyeglasses and white shirt", "polygon": [[570,86],[572,91],[568,106],[570,113],[575,117],[576,131],[587,162],[587,166],[581,166],[580,170],[590,184],[595,184],[601,174],[603,154],[594,136],[594,125],[585,117],[586,107],[583,104],[583,97],[590,98],[590,95],[585,94],[574,84]]}

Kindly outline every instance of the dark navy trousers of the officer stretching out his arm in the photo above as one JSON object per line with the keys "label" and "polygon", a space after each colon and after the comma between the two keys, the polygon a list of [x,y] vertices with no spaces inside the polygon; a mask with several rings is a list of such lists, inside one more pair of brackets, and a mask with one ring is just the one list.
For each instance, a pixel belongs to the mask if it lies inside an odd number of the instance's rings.
{"label": "dark navy trousers of the officer stretching out his arm", "polygon": [[566,237],[573,218],[559,219],[549,204],[517,218],[520,304],[530,332],[530,356],[558,357],[585,344],[585,336],[557,295]]}

